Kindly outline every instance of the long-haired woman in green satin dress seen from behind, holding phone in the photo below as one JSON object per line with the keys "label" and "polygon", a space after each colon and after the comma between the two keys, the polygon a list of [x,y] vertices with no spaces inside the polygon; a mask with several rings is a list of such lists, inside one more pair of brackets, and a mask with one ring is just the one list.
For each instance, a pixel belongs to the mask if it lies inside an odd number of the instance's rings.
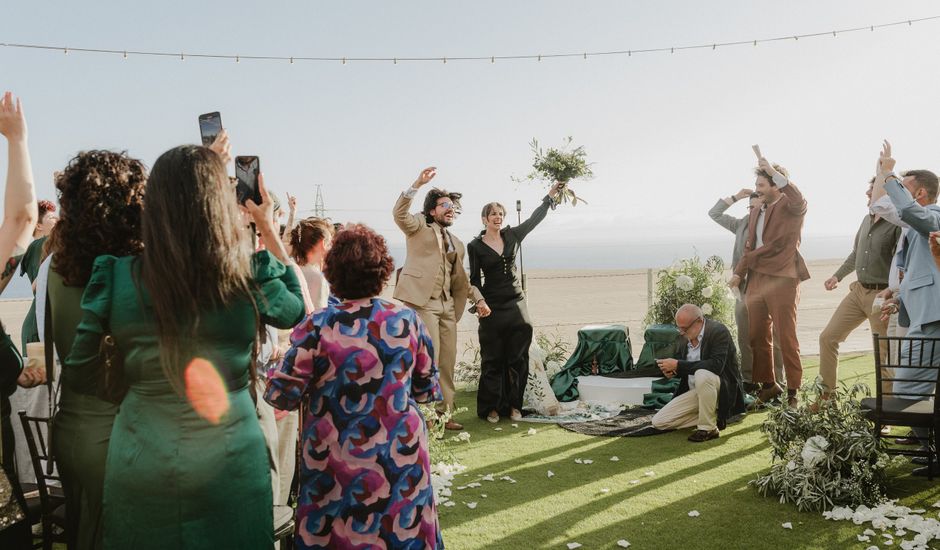
{"label": "long-haired woman in green satin dress seen from behind, holding phone", "polygon": [[248,388],[259,328],[293,326],[304,303],[276,258],[287,254],[270,201],[248,208],[267,248],[256,254],[222,157],[171,149],[147,182],[143,252],[95,261],[66,368],[95,365],[109,334],[130,386],[105,468],[104,548],[274,543],[268,457]]}

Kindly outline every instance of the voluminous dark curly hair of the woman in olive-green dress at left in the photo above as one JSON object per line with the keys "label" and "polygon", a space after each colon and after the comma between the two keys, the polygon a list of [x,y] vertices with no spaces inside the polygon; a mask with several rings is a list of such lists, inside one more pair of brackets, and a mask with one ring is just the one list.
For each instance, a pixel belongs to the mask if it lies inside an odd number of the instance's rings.
{"label": "voluminous dark curly hair of the woman in olive-green dress at left", "polygon": [[143,248],[140,213],[147,169],[127,152],[83,151],[55,180],[59,222],[46,250],[68,286],[84,286],[95,258],[128,256]]}

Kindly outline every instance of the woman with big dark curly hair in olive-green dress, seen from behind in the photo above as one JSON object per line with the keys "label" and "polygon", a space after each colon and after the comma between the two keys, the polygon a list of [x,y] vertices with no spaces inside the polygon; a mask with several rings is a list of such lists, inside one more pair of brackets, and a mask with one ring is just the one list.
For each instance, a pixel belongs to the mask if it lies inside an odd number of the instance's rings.
{"label": "woman with big dark curly hair in olive-green dress, seen from behind", "polygon": [[[58,173],[62,218],[49,237],[52,340],[67,357],[82,318],[82,292],[97,256],[138,254],[147,172],[125,153],[85,151]],[[40,300],[40,303],[42,301]],[[104,465],[117,405],[98,397],[100,362],[62,370],[52,444],[66,499],[68,547],[101,548]]]}

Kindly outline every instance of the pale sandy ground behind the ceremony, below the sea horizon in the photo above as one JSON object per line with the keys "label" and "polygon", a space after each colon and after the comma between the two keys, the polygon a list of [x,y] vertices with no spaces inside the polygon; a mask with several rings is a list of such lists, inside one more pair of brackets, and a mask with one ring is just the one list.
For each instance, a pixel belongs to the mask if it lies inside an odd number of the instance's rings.
{"label": "pale sandy ground behind the ceremony, below the sea horizon", "polygon": [[[800,285],[799,340],[803,355],[819,353],[819,333],[826,326],[832,312],[848,292],[850,275],[839,288],[827,292],[826,280],[841,260],[809,262],[812,278]],[[656,272],[653,272],[654,284]],[[529,314],[536,333],[557,334],[560,338],[577,342],[578,329],[589,324],[622,324],[630,330],[633,355],[643,347],[643,317],[647,310],[647,271],[636,270],[530,270],[526,272]],[[391,296],[392,289],[383,293]],[[0,301],[0,318],[13,341],[19,343],[23,317],[29,309],[28,300]],[[475,343],[477,319],[464,315],[458,326],[458,354],[468,343]],[[871,330],[865,323],[856,329],[842,345],[842,351],[872,349]],[[468,357],[469,359],[469,357]]]}

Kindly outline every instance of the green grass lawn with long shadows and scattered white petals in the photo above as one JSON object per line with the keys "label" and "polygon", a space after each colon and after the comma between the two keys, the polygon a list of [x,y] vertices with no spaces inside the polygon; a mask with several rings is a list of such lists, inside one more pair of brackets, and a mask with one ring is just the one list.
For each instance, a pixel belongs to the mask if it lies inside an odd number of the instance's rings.
{"label": "green grass lawn with long shadows and scattered white petals", "polygon": [[[817,370],[818,359],[804,359],[804,380],[814,379]],[[839,371],[849,385],[861,380],[874,388],[870,354],[844,356]],[[467,467],[454,479],[456,506],[439,507],[449,549],[564,549],[569,542],[585,549],[618,548],[620,539],[636,549],[885,547],[880,537],[857,541],[870,525],[797,512],[748,486],[770,467],[767,439],[759,429],[766,413],[749,414],[717,440],[690,443],[691,429],[631,438],[585,436],[552,424],[519,422],[513,428],[508,419],[494,426],[476,417],[475,392],[458,392],[457,402],[469,409],[457,420],[471,438],[449,443]],[[526,435],[529,428],[537,433]],[[612,456],[620,460],[612,462]],[[576,458],[594,462],[577,464]],[[934,515],[940,480],[913,477],[911,469],[891,467],[889,497],[927,509],[925,517]],[[548,477],[549,470],[554,477]],[[496,481],[481,481],[487,474]],[[457,489],[471,482],[482,486]],[[692,510],[700,516],[689,517]],[[786,522],[792,530],[781,526]]]}

